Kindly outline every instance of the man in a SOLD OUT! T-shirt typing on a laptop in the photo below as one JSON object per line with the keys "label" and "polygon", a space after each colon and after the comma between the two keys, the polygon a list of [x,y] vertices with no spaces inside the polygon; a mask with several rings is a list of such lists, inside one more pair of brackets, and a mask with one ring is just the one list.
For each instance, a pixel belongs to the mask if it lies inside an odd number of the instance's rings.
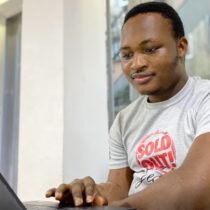
{"label": "man in a SOLD OUT! T-shirt typing on a laptop", "polygon": [[110,130],[108,180],[76,179],[47,197],[76,206],[210,209],[210,81],[187,76],[186,52],[182,22],[169,5],[144,3],[127,13],[122,69],[143,96]]}

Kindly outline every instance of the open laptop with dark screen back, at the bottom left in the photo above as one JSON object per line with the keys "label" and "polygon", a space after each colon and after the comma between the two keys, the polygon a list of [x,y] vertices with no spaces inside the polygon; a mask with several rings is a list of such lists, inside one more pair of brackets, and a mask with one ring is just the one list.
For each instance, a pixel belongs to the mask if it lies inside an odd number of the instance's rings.
{"label": "open laptop with dark screen back, at the bottom left", "polygon": [[5,178],[0,173],[0,210],[135,210],[124,207],[111,206],[87,206],[87,207],[69,207],[62,206],[57,202],[50,201],[32,201],[22,203],[15,192],[9,186]]}

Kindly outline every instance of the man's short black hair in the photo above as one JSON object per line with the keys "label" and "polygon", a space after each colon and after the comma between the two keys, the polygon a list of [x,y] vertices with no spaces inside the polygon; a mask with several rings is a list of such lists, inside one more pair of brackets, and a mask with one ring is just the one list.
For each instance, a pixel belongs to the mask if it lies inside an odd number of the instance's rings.
{"label": "man's short black hair", "polygon": [[164,18],[167,18],[171,21],[175,39],[179,39],[185,36],[184,26],[178,13],[173,7],[164,2],[146,2],[136,5],[125,15],[123,25],[131,17],[149,12],[159,13]]}

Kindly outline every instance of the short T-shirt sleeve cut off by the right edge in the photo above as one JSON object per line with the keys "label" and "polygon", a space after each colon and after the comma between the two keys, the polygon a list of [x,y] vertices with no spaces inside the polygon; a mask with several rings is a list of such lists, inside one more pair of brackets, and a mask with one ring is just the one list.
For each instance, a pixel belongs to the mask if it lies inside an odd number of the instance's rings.
{"label": "short T-shirt sleeve cut off by the right edge", "polygon": [[210,132],[210,94],[204,98],[196,115],[196,135]]}

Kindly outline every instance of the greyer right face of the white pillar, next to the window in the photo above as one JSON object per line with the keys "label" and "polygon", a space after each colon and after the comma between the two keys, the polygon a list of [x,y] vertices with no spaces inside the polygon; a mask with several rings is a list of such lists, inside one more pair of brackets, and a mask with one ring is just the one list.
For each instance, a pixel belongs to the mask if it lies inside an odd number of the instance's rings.
{"label": "greyer right face of the white pillar, next to the window", "polygon": [[108,170],[106,1],[64,0],[64,181]]}

